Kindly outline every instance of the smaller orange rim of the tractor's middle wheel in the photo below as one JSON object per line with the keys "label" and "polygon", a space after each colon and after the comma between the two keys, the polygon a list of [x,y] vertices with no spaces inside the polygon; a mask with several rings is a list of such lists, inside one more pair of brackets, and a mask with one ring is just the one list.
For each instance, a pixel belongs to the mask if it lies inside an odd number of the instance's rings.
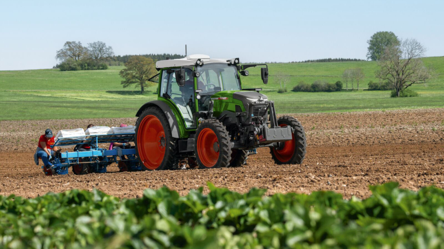
{"label": "smaller orange rim of the tractor's middle wheel", "polygon": [[211,168],[219,159],[219,141],[216,133],[204,128],[197,137],[197,156],[205,167]]}

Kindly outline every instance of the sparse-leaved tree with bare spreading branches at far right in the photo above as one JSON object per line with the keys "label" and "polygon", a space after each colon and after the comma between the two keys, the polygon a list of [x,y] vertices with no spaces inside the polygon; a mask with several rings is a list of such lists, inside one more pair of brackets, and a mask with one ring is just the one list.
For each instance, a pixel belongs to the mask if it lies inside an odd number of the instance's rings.
{"label": "sparse-leaved tree with bare spreading branches at far right", "polygon": [[420,59],[426,49],[415,39],[385,49],[376,71],[376,77],[391,83],[399,97],[400,92],[413,84],[425,83],[431,78],[430,69]]}

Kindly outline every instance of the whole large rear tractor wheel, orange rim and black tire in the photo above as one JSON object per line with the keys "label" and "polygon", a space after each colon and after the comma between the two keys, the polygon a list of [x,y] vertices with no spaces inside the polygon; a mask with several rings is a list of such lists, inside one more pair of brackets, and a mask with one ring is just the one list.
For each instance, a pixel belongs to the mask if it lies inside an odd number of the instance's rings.
{"label": "whole large rear tractor wheel, orange rim and black tire", "polygon": [[148,107],[137,119],[135,143],[139,161],[147,170],[171,169],[178,164],[177,139],[157,107]]}

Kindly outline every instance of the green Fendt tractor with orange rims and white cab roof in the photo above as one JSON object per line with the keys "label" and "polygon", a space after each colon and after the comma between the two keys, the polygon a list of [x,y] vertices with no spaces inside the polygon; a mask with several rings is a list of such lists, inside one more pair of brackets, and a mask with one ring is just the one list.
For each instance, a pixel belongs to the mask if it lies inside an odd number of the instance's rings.
{"label": "green Fendt tractor with orange rims and white cab roof", "polygon": [[[191,55],[156,62],[160,71],[150,81],[159,84],[157,100],[144,104],[136,116],[136,152],[148,170],[173,169],[180,160],[192,167],[242,166],[249,151],[269,147],[276,164],[300,164],[305,157],[305,132],[293,117],[276,118],[274,102],[242,89],[240,75],[266,64],[239,59]],[[157,79],[158,80],[155,80]]]}

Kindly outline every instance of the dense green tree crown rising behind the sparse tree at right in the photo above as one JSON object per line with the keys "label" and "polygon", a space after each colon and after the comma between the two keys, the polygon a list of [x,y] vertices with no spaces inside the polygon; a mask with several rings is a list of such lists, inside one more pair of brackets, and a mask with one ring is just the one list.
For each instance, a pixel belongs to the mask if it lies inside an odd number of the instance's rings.
{"label": "dense green tree crown rising behind the sparse tree at right", "polygon": [[392,45],[398,45],[399,40],[393,32],[379,31],[374,33],[367,43],[369,44],[367,59],[379,61],[385,48]]}

